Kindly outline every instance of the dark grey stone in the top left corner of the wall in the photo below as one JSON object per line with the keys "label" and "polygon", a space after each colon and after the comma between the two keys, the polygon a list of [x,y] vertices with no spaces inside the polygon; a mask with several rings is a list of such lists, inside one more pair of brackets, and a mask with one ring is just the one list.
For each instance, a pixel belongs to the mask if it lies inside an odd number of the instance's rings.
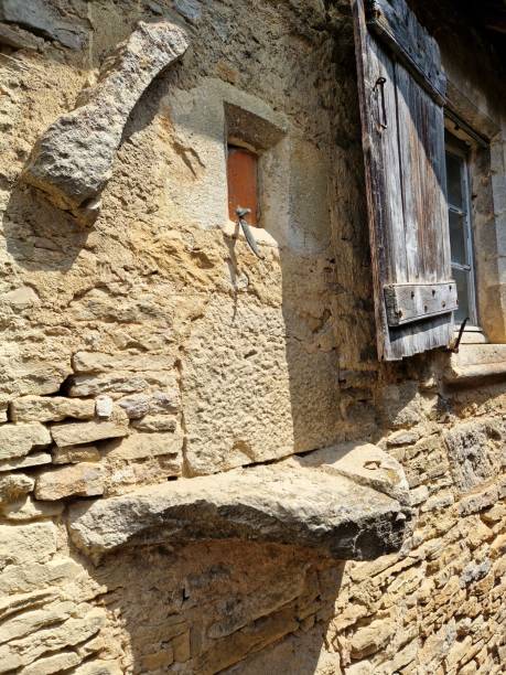
{"label": "dark grey stone in the top left corner of the wall", "polygon": [[80,49],[86,38],[84,26],[63,19],[45,0],[30,0],[30,2],[1,0],[0,19],[9,23],[19,23],[73,50]]}

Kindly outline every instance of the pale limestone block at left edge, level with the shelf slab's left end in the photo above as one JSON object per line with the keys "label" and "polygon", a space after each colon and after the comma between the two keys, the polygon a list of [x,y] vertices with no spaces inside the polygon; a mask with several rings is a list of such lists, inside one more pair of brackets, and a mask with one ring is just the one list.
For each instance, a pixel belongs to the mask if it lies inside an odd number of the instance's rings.
{"label": "pale limestone block at left edge, level with the shelf slab's left end", "polygon": [[53,523],[0,525],[0,569],[6,565],[31,565],[47,560],[56,553]]}

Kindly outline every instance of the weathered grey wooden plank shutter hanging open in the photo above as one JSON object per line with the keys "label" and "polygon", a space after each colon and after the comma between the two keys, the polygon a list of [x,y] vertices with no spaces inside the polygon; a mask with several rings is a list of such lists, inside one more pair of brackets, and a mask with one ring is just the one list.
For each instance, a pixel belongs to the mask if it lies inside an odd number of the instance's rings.
{"label": "weathered grey wooden plank shutter hanging open", "polygon": [[446,345],[445,76],[405,0],[353,0],[379,357]]}

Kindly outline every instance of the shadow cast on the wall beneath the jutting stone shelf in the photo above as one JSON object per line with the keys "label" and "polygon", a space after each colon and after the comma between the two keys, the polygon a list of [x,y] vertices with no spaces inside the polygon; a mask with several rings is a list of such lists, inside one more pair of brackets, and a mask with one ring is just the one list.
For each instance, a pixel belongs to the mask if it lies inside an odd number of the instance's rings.
{"label": "shadow cast on the wall beneath the jutting stone shelf", "polygon": [[90,574],[129,636],[123,668],[313,675],[343,570],[291,547],[213,542],[140,546]]}

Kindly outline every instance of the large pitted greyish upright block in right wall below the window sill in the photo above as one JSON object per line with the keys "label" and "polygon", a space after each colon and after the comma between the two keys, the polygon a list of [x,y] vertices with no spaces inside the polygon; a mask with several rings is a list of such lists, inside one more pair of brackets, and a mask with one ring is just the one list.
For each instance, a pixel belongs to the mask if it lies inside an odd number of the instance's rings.
{"label": "large pitted greyish upright block in right wall below the window sill", "polygon": [[494,420],[463,422],[445,433],[450,469],[459,490],[469,492],[498,473],[496,444],[500,435]]}

